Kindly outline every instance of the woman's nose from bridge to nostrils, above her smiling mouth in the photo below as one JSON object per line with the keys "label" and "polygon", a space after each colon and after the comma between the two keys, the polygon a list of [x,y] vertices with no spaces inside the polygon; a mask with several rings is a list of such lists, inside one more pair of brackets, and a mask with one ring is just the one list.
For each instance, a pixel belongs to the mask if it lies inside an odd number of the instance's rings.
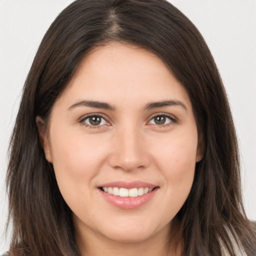
{"label": "woman's nose from bridge to nostrils, above her smiling mouth", "polygon": [[108,161],[111,167],[132,171],[149,165],[145,138],[135,127],[125,127],[116,132]]}

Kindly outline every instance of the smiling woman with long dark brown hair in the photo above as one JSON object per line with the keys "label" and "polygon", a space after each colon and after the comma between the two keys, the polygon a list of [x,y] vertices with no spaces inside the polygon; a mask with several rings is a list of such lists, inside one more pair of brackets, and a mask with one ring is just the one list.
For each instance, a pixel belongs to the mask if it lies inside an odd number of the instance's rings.
{"label": "smiling woman with long dark brown hair", "polygon": [[59,14],[25,82],[7,184],[10,255],[256,251],[217,68],[164,0]]}

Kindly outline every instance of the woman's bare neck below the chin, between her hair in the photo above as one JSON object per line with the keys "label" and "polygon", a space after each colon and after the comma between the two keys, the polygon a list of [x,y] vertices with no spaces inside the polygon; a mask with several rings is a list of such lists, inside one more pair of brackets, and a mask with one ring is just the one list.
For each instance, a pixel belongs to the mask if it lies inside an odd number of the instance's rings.
{"label": "woman's bare neck below the chin, between her hair", "polygon": [[81,256],[180,256],[181,241],[173,235],[176,225],[177,222],[172,221],[168,228],[142,241],[132,242],[112,240],[87,227],[81,229],[75,225],[75,239]]}

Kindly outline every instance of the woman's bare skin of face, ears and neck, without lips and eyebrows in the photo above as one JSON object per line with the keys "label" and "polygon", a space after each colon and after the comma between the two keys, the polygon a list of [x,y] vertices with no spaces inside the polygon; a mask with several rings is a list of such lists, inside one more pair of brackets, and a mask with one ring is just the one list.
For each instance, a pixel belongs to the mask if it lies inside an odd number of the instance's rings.
{"label": "woman's bare skin of face, ears and neck, without lips and eyebrows", "polygon": [[[81,100],[114,109],[72,106]],[[163,100],[184,106],[145,109]],[[100,124],[91,125],[88,114],[100,114]],[[155,116],[165,122],[156,123]],[[163,61],[134,45],[96,47],[56,100],[47,125],[40,117],[37,124],[45,157],[73,212],[81,255],[167,254],[174,217],[188,196],[202,150],[189,96]],[[98,188],[116,180],[159,188],[142,206],[120,209]]]}

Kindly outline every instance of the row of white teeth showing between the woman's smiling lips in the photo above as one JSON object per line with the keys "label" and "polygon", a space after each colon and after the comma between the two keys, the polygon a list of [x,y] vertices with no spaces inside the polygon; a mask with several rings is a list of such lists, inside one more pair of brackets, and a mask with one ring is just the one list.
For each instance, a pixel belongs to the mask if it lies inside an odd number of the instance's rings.
{"label": "row of white teeth showing between the woman's smiling lips", "polygon": [[103,191],[109,193],[109,194],[113,194],[113,195],[119,195],[121,197],[136,197],[139,195],[143,195],[146,194],[148,192],[152,191],[152,188],[148,188],[148,187],[139,187],[139,188],[124,188],[124,187],[102,187]]}

